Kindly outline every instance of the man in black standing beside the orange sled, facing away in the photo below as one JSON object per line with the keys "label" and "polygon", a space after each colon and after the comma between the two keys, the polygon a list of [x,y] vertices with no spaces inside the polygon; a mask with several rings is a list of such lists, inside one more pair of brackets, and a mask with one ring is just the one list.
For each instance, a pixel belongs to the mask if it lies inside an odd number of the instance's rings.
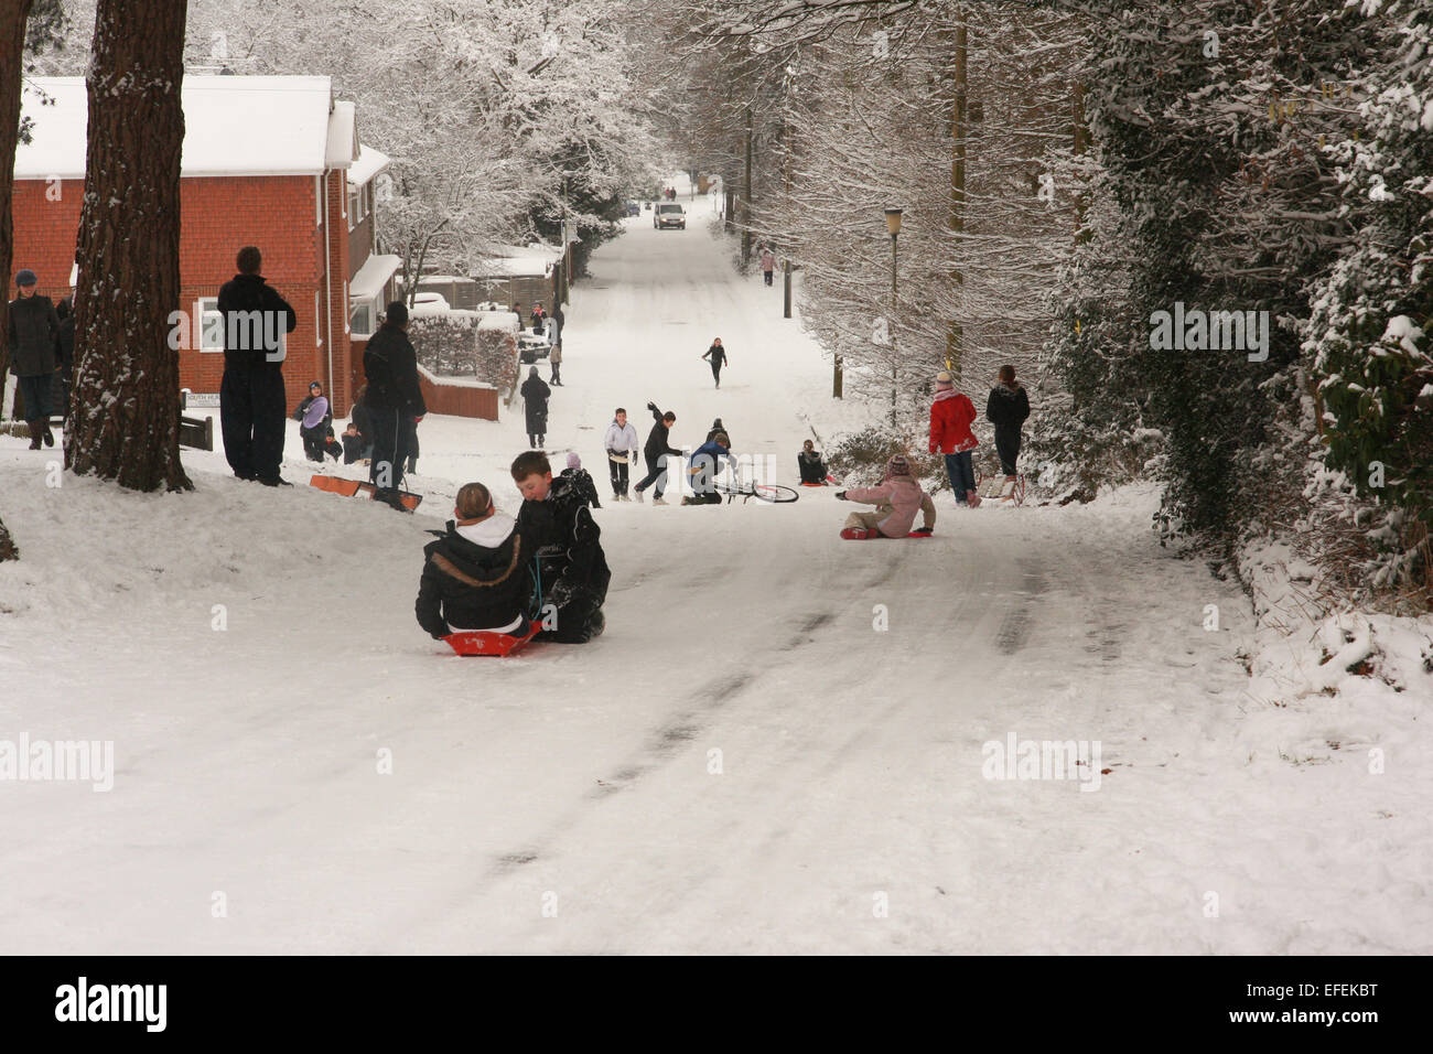
{"label": "man in black standing beside the orange sled, facing away", "polygon": [[374,432],[368,465],[368,479],[377,488],[373,498],[406,512],[398,492],[408,463],[410,436],[428,407],[418,387],[418,356],[408,340],[408,308],[401,300],[388,304],[383,326],[368,340],[363,371],[368,379],[364,406]]}

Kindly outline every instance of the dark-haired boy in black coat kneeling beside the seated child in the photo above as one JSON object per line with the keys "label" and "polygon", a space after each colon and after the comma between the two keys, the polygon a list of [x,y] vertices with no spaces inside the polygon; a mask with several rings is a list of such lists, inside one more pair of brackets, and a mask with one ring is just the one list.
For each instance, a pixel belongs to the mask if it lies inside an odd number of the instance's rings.
{"label": "dark-haired boy in black coat kneeling beside the seated child", "polygon": [[524,499],[517,532],[536,554],[542,582],[545,628],[537,640],[589,641],[606,625],[602,602],[612,581],[602,529],[575,482],[552,478],[552,465],[542,450],[517,455],[512,470]]}

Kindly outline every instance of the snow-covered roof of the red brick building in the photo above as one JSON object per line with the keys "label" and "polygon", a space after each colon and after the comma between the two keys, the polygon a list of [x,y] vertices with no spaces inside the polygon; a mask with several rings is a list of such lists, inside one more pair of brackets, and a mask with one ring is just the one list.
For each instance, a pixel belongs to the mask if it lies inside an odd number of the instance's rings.
{"label": "snow-covered roof of the red brick building", "polygon": [[[34,122],[34,141],[16,149],[14,178],[83,178],[85,79],[27,77],[20,103]],[[332,102],[324,76],[188,76],[183,118],[186,176],[318,175],[358,156],[354,105]]]}

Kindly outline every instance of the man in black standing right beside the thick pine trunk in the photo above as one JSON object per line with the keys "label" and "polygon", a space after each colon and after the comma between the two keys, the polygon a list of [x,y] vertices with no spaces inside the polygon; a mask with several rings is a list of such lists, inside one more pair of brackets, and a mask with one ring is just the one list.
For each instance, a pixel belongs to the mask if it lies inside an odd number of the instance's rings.
{"label": "man in black standing right beside the thick pine trunk", "polygon": [[224,456],[239,479],[265,486],[294,486],[278,475],[284,460],[288,399],[284,394],[284,336],[298,314],[259,275],[264,257],[254,245],[239,250],[239,272],[219,287],[224,318],[224,380],[219,427]]}

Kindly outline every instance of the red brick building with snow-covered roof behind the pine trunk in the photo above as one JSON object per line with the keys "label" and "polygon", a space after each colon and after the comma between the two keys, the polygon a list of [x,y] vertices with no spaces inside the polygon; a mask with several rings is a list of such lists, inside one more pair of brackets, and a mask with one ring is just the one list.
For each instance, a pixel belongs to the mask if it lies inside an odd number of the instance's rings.
{"label": "red brick building with snow-covered roof behind the pine trunk", "polygon": [[[40,95],[49,100],[42,105]],[[242,245],[264,252],[264,275],[298,313],[288,334],[289,406],[324,381],[344,414],[361,381],[363,346],[394,293],[397,257],[374,248],[374,181],[388,159],[360,146],[354,105],[328,77],[186,76],[181,158],[179,383],[219,390],[219,285]],[[33,142],[14,163],[14,270],[39,290],[69,294],[85,186],[87,100],[82,77],[32,77],[23,112]],[[7,275],[13,290],[14,275]],[[13,295],[13,294],[11,294]]]}

